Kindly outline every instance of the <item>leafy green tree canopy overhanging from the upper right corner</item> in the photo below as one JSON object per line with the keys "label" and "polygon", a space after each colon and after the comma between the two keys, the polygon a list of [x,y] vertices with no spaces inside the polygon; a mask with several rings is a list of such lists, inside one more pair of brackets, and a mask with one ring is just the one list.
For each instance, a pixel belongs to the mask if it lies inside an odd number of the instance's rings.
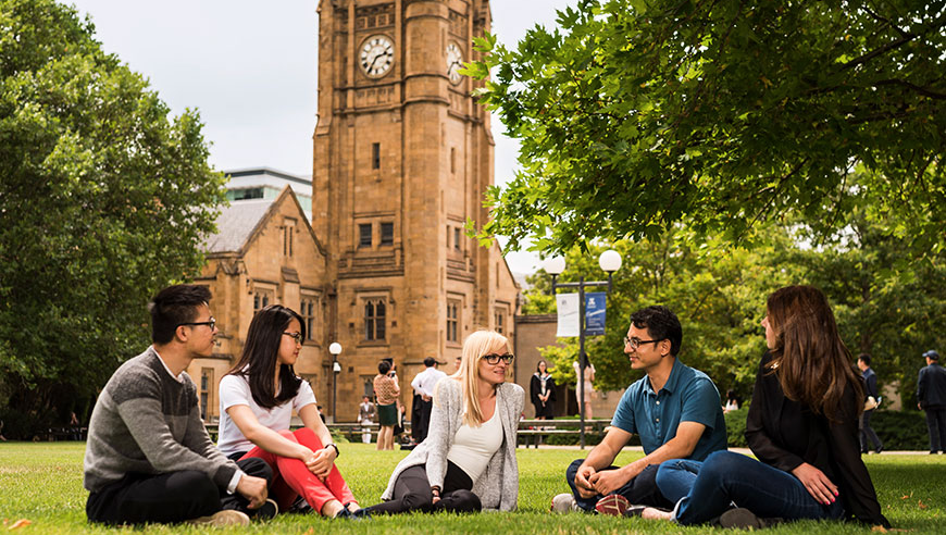
{"label": "leafy green tree canopy overhanging from the upper right corner", "polygon": [[466,72],[491,71],[482,101],[522,141],[484,239],[738,240],[793,213],[829,235],[867,201],[914,254],[943,250],[943,0],[581,0],[558,22],[476,41]]}

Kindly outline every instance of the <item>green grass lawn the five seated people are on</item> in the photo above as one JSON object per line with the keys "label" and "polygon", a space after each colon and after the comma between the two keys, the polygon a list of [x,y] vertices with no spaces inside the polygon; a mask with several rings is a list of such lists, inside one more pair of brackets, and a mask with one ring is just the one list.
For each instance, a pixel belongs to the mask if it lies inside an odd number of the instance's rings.
{"label": "green grass lawn the five seated people are on", "polygon": [[[82,487],[83,443],[0,444],[0,521],[3,531],[20,519],[30,525],[11,533],[115,533],[115,528],[86,523]],[[348,444],[338,464],[362,505],[374,503],[387,484],[401,451],[378,452],[373,446]],[[567,492],[564,468],[581,455],[577,450],[520,449],[519,512],[475,515],[402,515],[375,518],[369,522],[343,522],[313,515],[279,515],[273,521],[253,524],[234,532],[290,533],[322,535],[356,534],[452,534],[452,533],[542,533],[543,535],[583,534],[700,534],[721,533],[710,527],[680,527],[670,523],[624,520],[585,514],[553,515],[547,512],[549,500]],[[624,464],[640,453],[623,453]],[[869,456],[868,468],[877,488],[884,513],[895,527],[911,533],[946,532],[946,457],[944,456]],[[124,530],[122,530],[124,531]],[[192,526],[148,526],[135,533],[220,533]],[[798,522],[768,533],[855,534],[868,533],[858,525],[835,522]]]}

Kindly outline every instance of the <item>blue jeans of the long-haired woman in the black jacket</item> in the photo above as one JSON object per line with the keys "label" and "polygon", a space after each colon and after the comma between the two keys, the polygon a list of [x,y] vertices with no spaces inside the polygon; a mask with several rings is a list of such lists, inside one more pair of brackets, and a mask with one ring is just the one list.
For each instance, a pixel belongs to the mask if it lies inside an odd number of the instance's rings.
{"label": "blue jeans of the long-haired woman in the black jacket", "polygon": [[[660,476],[667,466],[668,474]],[[660,480],[682,482],[692,477],[693,488],[676,505],[675,517],[683,525],[709,522],[730,509],[733,503],[744,507],[761,518],[839,519],[844,514],[842,500],[822,506],[808,494],[805,485],[794,475],[731,451],[717,451],[707,457],[702,465],[681,468],[675,461],[661,464]],[[670,472],[685,472],[672,474]],[[669,492],[673,489],[671,484]]]}

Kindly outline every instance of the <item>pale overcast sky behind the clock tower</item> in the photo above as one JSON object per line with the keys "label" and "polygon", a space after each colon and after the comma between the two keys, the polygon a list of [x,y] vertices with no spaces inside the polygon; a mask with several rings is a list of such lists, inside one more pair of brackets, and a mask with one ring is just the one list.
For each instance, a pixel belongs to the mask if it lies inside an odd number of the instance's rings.
{"label": "pale overcast sky behind the clock tower", "polygon": [[[178,115],[197,109],[210,163],[220,171],[272,167],[312,174],[315,129],[318,0],[65,0],[91,17],[97,39]],[[514,45],[556,10],[577,0],[493,0],[493,33]],[[496,182],[513,175],[519,145],[498,119]],[[500,244],[505,241],[500,239]],[[537,258],[510,252],[513,272]]]}

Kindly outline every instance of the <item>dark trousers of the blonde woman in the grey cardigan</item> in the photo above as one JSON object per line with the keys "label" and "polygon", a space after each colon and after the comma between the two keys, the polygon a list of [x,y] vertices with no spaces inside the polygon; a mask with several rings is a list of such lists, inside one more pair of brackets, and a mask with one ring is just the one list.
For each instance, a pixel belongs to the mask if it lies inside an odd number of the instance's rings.
{"label": "dark trousers of the blonde woman in the grey cardigan", "polygon": [[368,510],[372,514],[398,514],[411,511],[480,512],[483,506],[480,503],[480,497],[471,492],[472,488],[473,481],[466,472],[447,461],[440,500],[434,503],[434,493],[427,480],[426,466],[419,464],[401,472],[395,482],[390,501],[371,506]]}

